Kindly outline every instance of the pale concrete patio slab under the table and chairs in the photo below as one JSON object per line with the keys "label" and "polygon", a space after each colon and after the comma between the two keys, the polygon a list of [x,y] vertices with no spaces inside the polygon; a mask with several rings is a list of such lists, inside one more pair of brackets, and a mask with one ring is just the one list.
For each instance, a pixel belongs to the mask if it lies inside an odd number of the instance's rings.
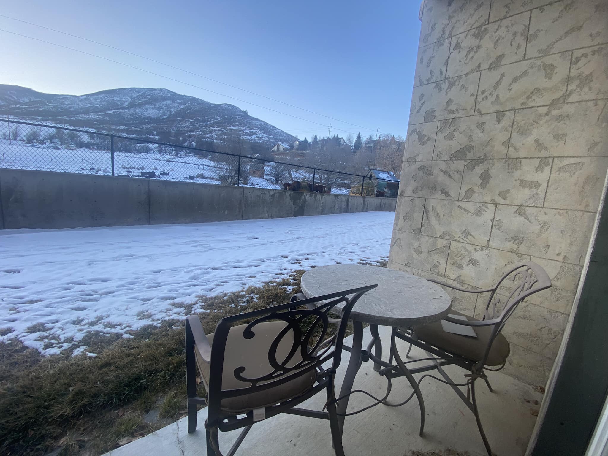
{"label": "pale concrete patio slab under the table and chairs", "polygon": [[[381,327],[382,347],[387,350],[390,328]],[[370,339],[369,329],[364,331],[364,344]],[[346,339],[347,344],[350,338]],[[400,353],[407,346],[398,341]],[[339,390],[346,364],[347,352],[337,372],[336,388]],[[412,350],[410,359],[425,358],[426,354]],[[458,367],[445,368],[457,382],[464,382],[465,371]],[[432,372],[431,372],[432,373]],[[494,393],[490,393],[483,382],[478,382],[478,406],[480,416],[492,450],[497,456],[520,456],[525,453],[528,440],[536,421],[531,410],[537,410],[534,401],[542,401],[541,393],[530,385],[500,372],[488,374]],[[420,378],[420,375],[416,376]],[[363,389],[375,396],[382,396],[386,379],[373,371],[373,364],[366,362],[354,382],[353,389]],[[420,409],[415,397],[401,407],[379,405],[354,416],[347,416],[344,429],[344,451],[349,456],[404,456],[410,451],[443,451],[450,448],[466,451],[472,456],[486,454],[478,433],[475,417],[461,402],[451,387],[431,378],[421,383],[426,405],[426,424],[423,437],[418,436]],[[393,380],[392,402],[402,401],[412,393],[406,379]],[[185,394],[185,392],[184,392]],[[354,393],[348,411],[361,409],[371,403],[371,398]],[[320,410],[325,403],[325,394],[318,394],[302,407]],[[203,423],[207,409],[198,413],[198,430],[187,433],[186,418],[164,427],[153,434],[126,444],[106,456],[203,456],[206,455]],[[230,449],[240,430],[219,434],[220,449],[224,454]],[[328,421],[294,415],[278,415],[255,424],[237,451],[240,455],[308,455],[333,456],[330,426]]]}

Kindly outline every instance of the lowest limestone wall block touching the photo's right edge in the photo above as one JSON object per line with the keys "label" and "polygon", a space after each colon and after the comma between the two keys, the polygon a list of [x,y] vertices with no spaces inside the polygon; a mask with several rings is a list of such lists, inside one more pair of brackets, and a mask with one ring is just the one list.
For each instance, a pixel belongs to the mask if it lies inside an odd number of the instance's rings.
{"label": "lowest limestone wall block touching the photo's right edge", "polygon": [[596,212],[608,157],[554,158],[544,206]]}

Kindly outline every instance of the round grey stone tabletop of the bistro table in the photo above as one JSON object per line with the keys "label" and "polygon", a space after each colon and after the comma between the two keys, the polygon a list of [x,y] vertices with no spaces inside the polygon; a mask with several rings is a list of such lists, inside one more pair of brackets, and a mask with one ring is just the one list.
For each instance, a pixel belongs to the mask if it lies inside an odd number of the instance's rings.
{"label": "round grey stone tabletop of the bistro table", "polygon": [[360,286],[378,284],[354,305],[350,317],[383,326],[427,325],[444,319],[451,299],[428,280],[394,269],[364,264],[332,264],[306,271],[302,292],[320,296]]}

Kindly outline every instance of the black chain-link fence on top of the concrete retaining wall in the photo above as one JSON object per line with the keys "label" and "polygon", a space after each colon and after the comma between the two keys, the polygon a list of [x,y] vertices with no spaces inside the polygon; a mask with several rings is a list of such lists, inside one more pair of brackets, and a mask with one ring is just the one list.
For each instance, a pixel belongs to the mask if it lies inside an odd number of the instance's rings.
{"label": "black chain-link fence on top of the concrete retaining wall", "polygon": [[187,145],[0,119],[0,168],[396,198],[398,182]]}

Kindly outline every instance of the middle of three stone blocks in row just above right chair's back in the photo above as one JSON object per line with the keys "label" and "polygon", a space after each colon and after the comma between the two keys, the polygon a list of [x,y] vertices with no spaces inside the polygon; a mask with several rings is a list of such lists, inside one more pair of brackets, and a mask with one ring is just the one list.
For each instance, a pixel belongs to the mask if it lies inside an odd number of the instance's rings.
{"label": "middle of three stone blocks in row just above right chair's back", "polygon": [[487,246],[494,205],[427,199],[422,234]]}

